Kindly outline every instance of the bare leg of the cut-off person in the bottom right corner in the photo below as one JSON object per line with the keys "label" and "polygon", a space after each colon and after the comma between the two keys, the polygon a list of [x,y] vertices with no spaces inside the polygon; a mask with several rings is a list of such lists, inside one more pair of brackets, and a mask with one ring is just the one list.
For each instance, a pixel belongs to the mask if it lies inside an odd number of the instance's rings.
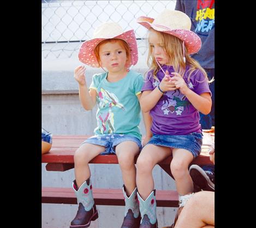
{"label": "bare leg of the cut-off person in the bottom right corner", "polygon": [[199,191],[186,203],[178,217],[175,228],[199,228],[215,226],[215,193]]}

